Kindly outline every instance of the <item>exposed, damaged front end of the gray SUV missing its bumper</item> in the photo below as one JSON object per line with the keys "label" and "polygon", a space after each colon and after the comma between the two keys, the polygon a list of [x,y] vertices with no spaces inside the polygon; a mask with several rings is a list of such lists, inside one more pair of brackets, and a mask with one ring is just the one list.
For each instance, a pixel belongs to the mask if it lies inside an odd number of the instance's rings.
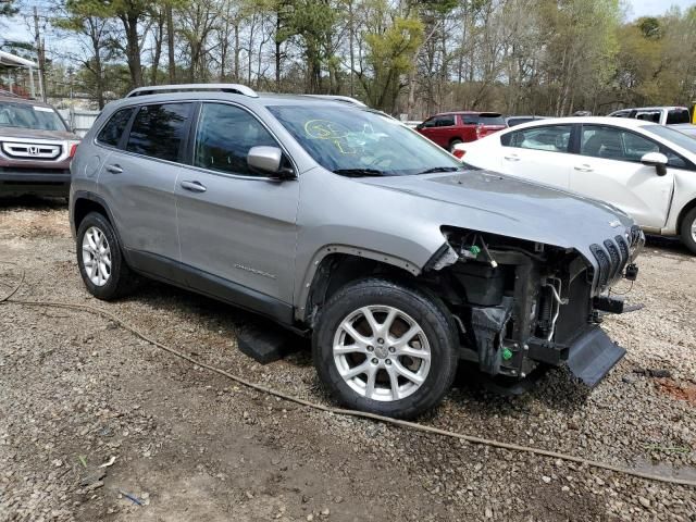
{"label": "exposed, damaged front end of the gray SUV missing its bumper", "polygon": [[[567,364],[593,387],[625,355],[599,327],[601,313],[621,313],[608,289],[635,279],[645,237],[638,227],[575,249],[443,228],[447,243],[424,276],[459,325],[461,358],[490,376],[524,378]],[[601,312],[601,313],[600,313]]]}

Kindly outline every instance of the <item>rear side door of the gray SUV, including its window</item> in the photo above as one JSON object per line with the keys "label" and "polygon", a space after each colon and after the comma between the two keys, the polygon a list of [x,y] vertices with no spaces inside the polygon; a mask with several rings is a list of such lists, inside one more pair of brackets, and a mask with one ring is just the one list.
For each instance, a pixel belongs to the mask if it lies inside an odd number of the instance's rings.
{"label": "rear side door of the gray SUV, including its window", "polygon": [[152,262],[179,259],[174,187],[186,170],[191,109],[190,102],[141,105],[99,176],[124,247],[141,270],[160,272]]}

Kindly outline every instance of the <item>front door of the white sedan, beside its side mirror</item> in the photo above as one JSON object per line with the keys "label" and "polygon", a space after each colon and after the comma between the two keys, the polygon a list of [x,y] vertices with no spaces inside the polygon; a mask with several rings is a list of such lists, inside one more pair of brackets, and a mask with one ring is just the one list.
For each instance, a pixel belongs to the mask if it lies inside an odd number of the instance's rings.
{"label": "front door of the white sedan, beside its side mirror", "polygon": [[[583,125],[570,188],[619,207],[641,226],[659,229],[667,222],[674,173],[668,169],[658,176],[655,166],[641,163],[648,152],[668,151],[624,128]],[[667,156],[672,162],[679,160],[673,153]]]}

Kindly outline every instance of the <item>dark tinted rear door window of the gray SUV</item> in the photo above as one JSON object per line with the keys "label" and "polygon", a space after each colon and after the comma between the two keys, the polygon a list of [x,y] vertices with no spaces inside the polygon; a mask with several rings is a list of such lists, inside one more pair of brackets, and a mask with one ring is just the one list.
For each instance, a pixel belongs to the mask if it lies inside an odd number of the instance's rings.
{"label": "dark tinted rear door window of the gray SUV", "polygon": [[190,103],[142,105],[135,116],[126,150],[159,160],[177,161],[184,147]]}

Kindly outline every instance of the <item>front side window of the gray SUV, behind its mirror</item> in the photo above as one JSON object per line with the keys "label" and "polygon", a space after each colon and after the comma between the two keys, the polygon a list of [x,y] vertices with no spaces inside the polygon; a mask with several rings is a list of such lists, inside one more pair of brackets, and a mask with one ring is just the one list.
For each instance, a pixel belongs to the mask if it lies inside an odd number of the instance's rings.
{"label": "front side window of the gray SUV, behind its mirror", "polygon": [[203,103],[198,116],[194,165],[254,176],[247,165],[249,149],[277,142],[249,112],[225,103]]}

